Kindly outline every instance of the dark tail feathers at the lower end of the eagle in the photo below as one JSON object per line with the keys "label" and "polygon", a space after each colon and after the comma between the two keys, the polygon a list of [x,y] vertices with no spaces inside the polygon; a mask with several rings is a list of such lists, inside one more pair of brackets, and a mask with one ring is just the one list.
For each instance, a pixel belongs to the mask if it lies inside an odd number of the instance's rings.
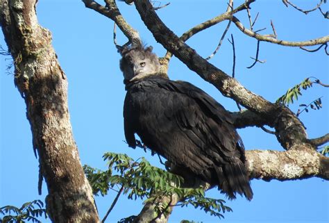
{"label": "dark tail feathers at the lower end of the eagle", "polygon": [[227,163],[220,169],[217,170],[220,181],[219,188],[228,195],[229,199],[235,199],[236,193],[244,195],[249,201],[253,198],[253,190],[251,190],[246,167],[241,160],[237,160],[236,163]]}

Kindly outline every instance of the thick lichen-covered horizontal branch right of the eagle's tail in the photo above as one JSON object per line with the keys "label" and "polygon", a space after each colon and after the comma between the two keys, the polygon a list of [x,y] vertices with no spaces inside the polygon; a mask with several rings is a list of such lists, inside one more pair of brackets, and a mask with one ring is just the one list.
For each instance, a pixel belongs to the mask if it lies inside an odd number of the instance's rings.
{"label": "thick lichen-covered horizontal branch right of the eagle's tail", "polygon": [[314,149],[299,147],[289,151],[246,151],[251,179],[288,181],[317,176],[329,180],[329,158]]}

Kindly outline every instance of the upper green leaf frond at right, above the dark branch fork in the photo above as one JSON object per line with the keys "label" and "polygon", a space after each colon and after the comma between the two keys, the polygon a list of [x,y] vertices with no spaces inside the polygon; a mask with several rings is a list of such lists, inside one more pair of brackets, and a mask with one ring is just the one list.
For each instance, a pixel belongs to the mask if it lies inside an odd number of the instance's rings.
{"label": "upper green leaf frond at right, above the dark branch fork", "polygon": [[276,103],[283,104],[285,106],[289,106],[289,104],[294,103],[294,99],[297,101],[298,96],[301,96],[301,88],[303,90],[307,90],[307,88],[312,88],[313,82],[310,81],[310,78],[305,79],[302,83],[295,85],[293,88],[289,88],[285,94],[283,94]]}

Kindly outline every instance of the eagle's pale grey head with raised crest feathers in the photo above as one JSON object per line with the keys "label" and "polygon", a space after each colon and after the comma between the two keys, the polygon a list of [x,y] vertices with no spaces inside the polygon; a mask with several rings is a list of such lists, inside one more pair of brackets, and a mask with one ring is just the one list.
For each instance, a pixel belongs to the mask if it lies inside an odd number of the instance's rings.
{"label": "eagle's pale grey head with raised crest feathers", "polygon": [[124,79],[135,81],[160,71],[158,56],[152,53],[152,47],[136,47],[121,51],[120,69]]}

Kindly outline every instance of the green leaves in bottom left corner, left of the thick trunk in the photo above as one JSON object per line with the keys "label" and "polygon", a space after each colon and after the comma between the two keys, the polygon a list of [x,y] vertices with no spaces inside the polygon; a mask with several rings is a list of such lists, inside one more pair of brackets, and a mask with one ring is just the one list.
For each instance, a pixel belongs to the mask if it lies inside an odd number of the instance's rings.
{"label": "green leaves in bottom left corner, left of the thick trunk", "polygon": [[[37,206],[37,207],[35,207]],[[17,208],[15,206],[3,206],[0,208],[0,222],[3,223],[23,223],[26,221],[41,222],[37,220],[37,217],[47,218],[46,209],[43,208],[44,204],[40,200],[34,200],[26,202],[22,207]]]}

